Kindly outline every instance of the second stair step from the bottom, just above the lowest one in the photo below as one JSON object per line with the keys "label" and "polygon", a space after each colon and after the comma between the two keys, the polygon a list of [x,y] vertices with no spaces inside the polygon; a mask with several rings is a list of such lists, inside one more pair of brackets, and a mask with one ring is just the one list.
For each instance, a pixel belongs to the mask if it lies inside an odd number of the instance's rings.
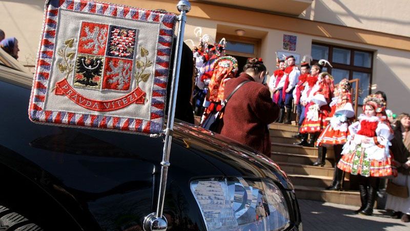
{"label": "second stair step from the bottom, just above the lowest one", "polygon": [[333,167],[320,167],[296,163],[277,162],[277,164],[286,172],[286,174],[333,177],[335,170]]}

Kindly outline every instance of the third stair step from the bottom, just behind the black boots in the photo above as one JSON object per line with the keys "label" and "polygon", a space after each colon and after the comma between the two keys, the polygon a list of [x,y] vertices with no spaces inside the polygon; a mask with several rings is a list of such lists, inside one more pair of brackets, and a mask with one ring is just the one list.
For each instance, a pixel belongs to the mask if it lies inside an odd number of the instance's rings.
{"label": "third stair step from the bottom, just behind the black boots", "polygon": [[[274,143],[274,142],[272,142],[272,151],[292,153],[292,154],[298,154],[298,155],[316,156],[316,157],[318,155],[318,148],[317,147],[303,147],[303,146],[300,146],[300,145],[285,144],[285,143]],[[327,148],[326,158],[327,159],[334,159],[335,158],[333,148]]]}

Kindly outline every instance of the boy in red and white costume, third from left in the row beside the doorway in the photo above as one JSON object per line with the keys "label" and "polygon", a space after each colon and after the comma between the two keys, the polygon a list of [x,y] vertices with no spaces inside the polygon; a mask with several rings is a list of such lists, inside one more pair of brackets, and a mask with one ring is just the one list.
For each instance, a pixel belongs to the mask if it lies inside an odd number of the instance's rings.
{"label": "boy in red and white costume, third from left in the row beside the doorway", "polygon": [[[305,55],[303,56],[302,63],[300,64],[299,80],[295,86],[295,89],[293,90],[293,100],[296,105],[296,114],[298,118],[297,122],[298,122],[299,129],[304,120],[304,106],[300,102],[300,97],[301,97],[302,91],[305,88],[306,79],[309,76],[310,69],[311,69],[310,61],[306,62],[306,55]],[[302,134],[298,133],[294,137],[301,139]]]}

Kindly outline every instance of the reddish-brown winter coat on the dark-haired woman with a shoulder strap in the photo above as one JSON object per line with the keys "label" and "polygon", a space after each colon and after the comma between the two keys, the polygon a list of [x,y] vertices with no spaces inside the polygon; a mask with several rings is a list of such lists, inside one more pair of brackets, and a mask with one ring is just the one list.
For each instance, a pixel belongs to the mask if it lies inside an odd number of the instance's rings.
{"label": "reddish-brown winter coat on the dark-haired woman with a shoulder strap", "polygon": [[251,82],[239,88],[225,107],[221,134],[270,157],[268,125],[278,118],[279,107],[272,102],[268,87],[256,83],[252,76],[241,73],[238,78],[227,81],[224,98],[246,80]]}

